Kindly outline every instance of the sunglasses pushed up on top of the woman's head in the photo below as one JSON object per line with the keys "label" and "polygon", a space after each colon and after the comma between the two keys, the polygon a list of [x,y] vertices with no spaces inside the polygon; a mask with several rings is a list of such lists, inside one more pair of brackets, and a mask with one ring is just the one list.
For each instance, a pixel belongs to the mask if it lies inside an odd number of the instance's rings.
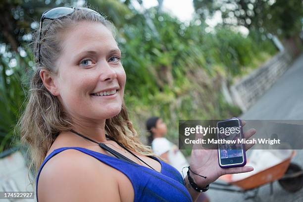
{"label": "sunglasses pushed up on top of the woman's head", "polygon": [[40,29],[39,29],[39,42],[38,42],[38,61],[39,61],[39,64],[41,64],[40,40],[41,40],[41,30],[42,30],[43,21],[45,19],[54,20],[54,19],[63,18],[65,16],[70,15],[73,12],[75,12],[76,9],[77,10],[90,11],[90,12],[93,12],[93,13],[101,16],[101,14],[96,12],[95,10],[92,10],[90,8],[84,8],[84,7],[69,7],[69,6],[68,7],[55,7],[55,8],[51,8],[49,10],[44,11],[42,16],[41,16]]}

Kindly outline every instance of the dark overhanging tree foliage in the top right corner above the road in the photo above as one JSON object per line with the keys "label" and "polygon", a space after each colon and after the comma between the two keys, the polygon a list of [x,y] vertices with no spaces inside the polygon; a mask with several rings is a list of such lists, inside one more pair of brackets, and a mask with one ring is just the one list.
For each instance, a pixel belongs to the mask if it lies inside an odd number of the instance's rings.
{"label": "dark overhanging tree foliage in the top right corner above the road", "polygon": [[204,20],[220,12],[223,24],[242,25],[260,33],[290,38],[300,33],[302,0],[194,0],[196,12]]}

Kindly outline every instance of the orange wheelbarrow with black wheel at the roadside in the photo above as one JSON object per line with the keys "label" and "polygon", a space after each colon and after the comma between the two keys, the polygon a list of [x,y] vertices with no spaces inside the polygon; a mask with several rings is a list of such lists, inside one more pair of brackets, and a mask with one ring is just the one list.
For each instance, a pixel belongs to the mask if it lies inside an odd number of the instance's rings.
{"label": "orange wheelbarrow with black wheel at the roadside", "polygon": [[[247,197],[254,198],[257,195],[258,188],[262,185],[270,183],[270,194],[273,193],[272,183],[278,180],[281,187],[288,192],[297,192],[303,187],[303,170],[295,163],[291,163],[291,159],[295,156],[296,151],[292,151],[290,157],[284,159],[282,162],[261,170],[249,177],[237,181],[232,180],[232,175],[227,174],[221,176],[219,179],[222,182],[213,182],[209,189],[246,193],[247,191],[254,191],[254,195]],[[230,188],[232,186],[236,186]],[[237,188],[238,187],[238,188]]]}

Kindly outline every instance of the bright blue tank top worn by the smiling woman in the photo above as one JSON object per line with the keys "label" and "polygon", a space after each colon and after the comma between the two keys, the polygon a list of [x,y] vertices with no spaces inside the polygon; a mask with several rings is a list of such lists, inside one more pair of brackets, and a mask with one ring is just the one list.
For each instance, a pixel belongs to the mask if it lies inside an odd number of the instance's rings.
{"label": "bright blue tank top worn by the smiling woman", "polygon": [[62,147],[52,151],[42,162],[36,178],[36,198],[38,202],[38,179],[43,166],[54,155],[64,150],[74,149],[91,155],[101,162],[119,170],[131,181],[134,188],[134,202],[192,202],[180,172],[166,162],[149,156],[161,164],[161,172],[146,166],[128,162],[113,156],[82,147]]}

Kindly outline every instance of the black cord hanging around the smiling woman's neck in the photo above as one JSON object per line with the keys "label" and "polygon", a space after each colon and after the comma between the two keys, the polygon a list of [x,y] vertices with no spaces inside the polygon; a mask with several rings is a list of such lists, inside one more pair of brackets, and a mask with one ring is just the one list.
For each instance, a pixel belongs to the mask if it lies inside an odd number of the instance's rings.
{"label": "black cord hanging around the smiling woman's neck", "polygon": [[[70,131],[73,132],[73,133],[75,133],[75,134],[77,134],[77,135],[79,135],[79,136],[81,136],[81,137],[83,137],[83,138],[85,138],[85,139],[87,139],[87,140],[89,140],[89,141],[92,141],[92,142],[98,144],[99,147],[101,147],[103,150],[105,150],[105,151],[107,151],[107,152],[110,152],[111,154],[113,154],[113,155],[116,156],[117,158],[124,159],[124,160],[130,161],[130,162],[132,162],[132,163],[136,163],[136,162],[134,162],[133,160],[131,160],[131,159],[125,157],[125,156],[122,155],[121,153],[116,152],[115,150],[113,150],[113,149],[111,149],[110,147],[106,146],[104,143],[98,143],[97,141],[92,140],[92,139],[90,139],[90,138],[88,138],[88,137],[86,137],[86,136],[84,136],[84,135],[82,135],[82,134],[80,134],[80,133],[74,131],[73,129],[70,129]],[[136,154],[134,154],[134,153],[131,152],[129,149],[127,149],[124,145],[122,145],[121,143],[119,143],[118,141],[116,141],[115,139],[113,139],[112,137],[110,137],[110,136],[108,136],[108,135],[105,135],[105,136],[106,136],[107,138],[109,138],[110,140],[115,141],[120,147],[122,147],[123,149],[125,149],[127,152],[130,152],[130,153],[131,153],[132,155],[134,155],[136,158],[138,158],[138,159],[141,160],[143,163],[145,163],[145,164],[148,165],[150,168],[152,168],[149,164],[147,164],[144,160],[142,160],[142,159],[139,158]],[[137,164],[137,163],[136,163],[136,164]],[[153,168],[152,168],[152,169],[153,169]],[[155,169],[153,169],[153,170],[155,170]]]}

